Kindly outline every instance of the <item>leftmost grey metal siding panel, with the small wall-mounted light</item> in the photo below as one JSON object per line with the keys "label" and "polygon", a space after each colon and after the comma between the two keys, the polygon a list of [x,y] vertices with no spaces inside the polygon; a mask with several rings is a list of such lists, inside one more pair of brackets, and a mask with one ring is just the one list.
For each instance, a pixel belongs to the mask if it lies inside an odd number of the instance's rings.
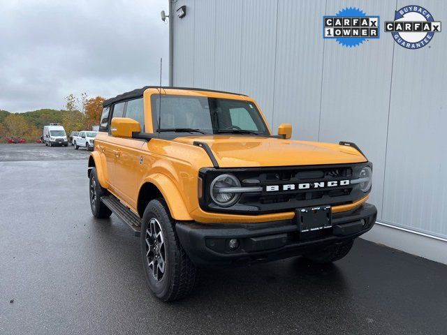
{"label": "leftmost grey metal siding panel, with the small wall-mounted light", "polygon": [[[179,0],[174,3],[174,86],[193,86],[194,3],[195,0]],[[175,10],[183,5],[186,5],[186,16],[179,19]]]}

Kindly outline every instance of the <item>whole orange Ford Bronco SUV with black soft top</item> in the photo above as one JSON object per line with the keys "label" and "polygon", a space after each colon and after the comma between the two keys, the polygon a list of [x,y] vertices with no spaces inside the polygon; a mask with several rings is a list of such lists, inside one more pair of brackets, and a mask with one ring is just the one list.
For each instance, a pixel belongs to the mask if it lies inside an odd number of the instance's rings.
{"label": "whole orange Ford Bronco SUV with black soft top", "polygon": [[249,96],[143,87],[104,102],[89,157],[96,218],[140,236],[149,288],[191,292],[198,267],[302,255],[333,262],[372,228],[372,163],[351,142],[272,135]]}

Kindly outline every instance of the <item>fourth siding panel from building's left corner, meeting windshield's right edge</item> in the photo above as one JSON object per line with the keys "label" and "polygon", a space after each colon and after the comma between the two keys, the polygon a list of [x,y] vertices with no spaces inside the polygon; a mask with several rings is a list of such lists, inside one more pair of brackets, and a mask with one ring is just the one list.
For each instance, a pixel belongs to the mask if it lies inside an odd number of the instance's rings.
{"label": "fourth siding panel from building's left corner, meeting windshield's right edge", "polygon": [[242,9],[240,92],[256,99],[272,121],[277,1],[246,0]]}

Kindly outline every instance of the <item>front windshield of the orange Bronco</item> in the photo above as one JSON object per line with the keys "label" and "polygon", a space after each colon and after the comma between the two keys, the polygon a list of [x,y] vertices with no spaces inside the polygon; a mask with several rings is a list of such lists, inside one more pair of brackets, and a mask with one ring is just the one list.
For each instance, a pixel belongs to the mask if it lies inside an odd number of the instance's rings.
{"label": "front windshield of the orange Bronco", "polygon": [[[152,95],[154,132],[159,128],[159,97]],[[161,130],[191,133],[187,129],[206,134],[270,135],[256,105],[250,101],[161,95]]]}

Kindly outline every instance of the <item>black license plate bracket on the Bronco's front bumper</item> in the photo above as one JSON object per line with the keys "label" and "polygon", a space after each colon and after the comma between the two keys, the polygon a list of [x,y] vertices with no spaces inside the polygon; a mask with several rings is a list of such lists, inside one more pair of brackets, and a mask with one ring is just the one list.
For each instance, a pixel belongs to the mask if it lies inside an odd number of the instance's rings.
{"label": "black license plate bracket on the Bronco's front bumper", "polygon": [[316,232],[332,228],[331,207],[316,206],[297,209],[298,228],[300,232]]}

